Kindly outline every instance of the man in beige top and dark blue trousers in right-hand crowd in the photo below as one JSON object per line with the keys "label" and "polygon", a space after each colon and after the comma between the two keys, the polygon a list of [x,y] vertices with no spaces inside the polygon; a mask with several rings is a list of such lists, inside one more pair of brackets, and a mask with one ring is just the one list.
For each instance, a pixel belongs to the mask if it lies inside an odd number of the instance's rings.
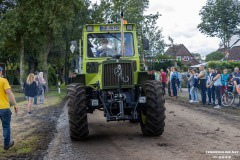
{"label": "man in beige top and dark blue trousers in right-hand crowd", "polygon": [[199,88],[201,90],[201,97],[202,97],[202,105],[206,105],[206,77],[207,77],[207,72],[204,69],[204,65],[201,65],[199,67],[200,73],[198,74],[198,79],[200,80],[199,83]]}

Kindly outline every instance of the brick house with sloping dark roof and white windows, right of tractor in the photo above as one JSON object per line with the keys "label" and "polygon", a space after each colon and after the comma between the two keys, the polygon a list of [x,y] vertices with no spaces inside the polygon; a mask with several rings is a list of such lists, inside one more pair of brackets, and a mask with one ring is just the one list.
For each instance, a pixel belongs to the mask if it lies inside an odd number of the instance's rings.
{"label": "brick house with sloping dark roof and white windows, right of tractor", "polygon": [[172,56],[188,66],[199,64],[199,62],[194,58],[194,56],[183,44],[173,45],[172,47],[169,47],[164,53],[164,55]]}

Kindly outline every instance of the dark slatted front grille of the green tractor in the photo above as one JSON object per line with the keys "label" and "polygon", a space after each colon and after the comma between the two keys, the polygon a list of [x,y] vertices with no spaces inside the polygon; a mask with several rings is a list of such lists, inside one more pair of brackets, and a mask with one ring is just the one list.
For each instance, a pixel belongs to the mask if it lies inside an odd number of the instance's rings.
{"label": "dark slatted front grille of the green tractor", "polygon": [[[121,85],[123,88],[133,85],[133,70],[132,63],[107,63],[103,66],[103,87],[111,88],[118,87],[118,76],[116,75],[116,68],[121,65],[122,76]],[[128,77],[128,81],[126,82]]]}

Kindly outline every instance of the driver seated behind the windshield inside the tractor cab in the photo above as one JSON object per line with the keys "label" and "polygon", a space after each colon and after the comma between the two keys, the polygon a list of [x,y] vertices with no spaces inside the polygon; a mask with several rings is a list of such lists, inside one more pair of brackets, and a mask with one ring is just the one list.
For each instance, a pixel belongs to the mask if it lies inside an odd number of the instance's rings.
{"label": "driver seated behind the windshield inside the tractor cab", "polygon": [[97,50],[96,57],[112,57],[113,50],[108,47],[108,40],[103,39],[101,41],[101,47]]}

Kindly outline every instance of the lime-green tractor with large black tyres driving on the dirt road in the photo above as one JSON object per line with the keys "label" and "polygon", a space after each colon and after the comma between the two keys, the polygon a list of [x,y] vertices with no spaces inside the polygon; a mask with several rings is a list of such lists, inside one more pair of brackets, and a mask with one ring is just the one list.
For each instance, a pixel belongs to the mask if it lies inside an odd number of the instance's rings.
{"label": "lime-green tractor with large black tyres driving on the dirt road", "polygon": [[96,109],[107,122],[138,121],[144,135],[161,135],[165,99],[161,83],[140,71],[136,25],[85,25],[80,48],[79,71],[67,88],[70,137],[89,135],[87,113]]}

